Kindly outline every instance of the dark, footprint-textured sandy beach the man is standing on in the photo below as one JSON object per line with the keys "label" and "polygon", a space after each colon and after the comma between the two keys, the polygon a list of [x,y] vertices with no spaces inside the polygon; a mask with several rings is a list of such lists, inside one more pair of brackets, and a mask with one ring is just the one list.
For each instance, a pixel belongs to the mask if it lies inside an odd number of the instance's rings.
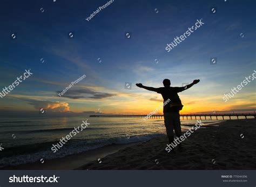
{"label": "dark, footprint-textured sandy beach the man is standing on", "polygon": [[227,120],[201,127],[183,151],[165,150],[167,137],[153,138],[79,167],[84,170],[252,170],[256,168],[255,119]]}

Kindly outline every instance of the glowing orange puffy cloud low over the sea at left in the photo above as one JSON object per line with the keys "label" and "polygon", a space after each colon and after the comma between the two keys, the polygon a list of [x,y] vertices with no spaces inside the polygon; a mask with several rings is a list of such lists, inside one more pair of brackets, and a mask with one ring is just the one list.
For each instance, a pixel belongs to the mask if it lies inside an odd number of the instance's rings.
{"label": "glowing orange puffy cloud low over the sea at left", "polygon": [[36,109],[44,108],[48,112],[69,112],[69,103],[59,101],[44,101],[20,98]]}

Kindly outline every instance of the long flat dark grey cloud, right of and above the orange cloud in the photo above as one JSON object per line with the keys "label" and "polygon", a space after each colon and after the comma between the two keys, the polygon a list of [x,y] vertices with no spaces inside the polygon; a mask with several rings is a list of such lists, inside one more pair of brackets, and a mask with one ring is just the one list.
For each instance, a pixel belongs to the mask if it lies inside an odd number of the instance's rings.
{"label": "long flat dark grey cloud, right of and above the orange cloud", "polygon": [[[57,94],[61,91],[57,91]],[[104,92],[95,92],[88,88],[69,90],[62,95],[64,98],[70,99],[81,99],[81,98],[89,98],[89,99],[103,99],[110,98],[116,94],[112,93],[104,93]]]}

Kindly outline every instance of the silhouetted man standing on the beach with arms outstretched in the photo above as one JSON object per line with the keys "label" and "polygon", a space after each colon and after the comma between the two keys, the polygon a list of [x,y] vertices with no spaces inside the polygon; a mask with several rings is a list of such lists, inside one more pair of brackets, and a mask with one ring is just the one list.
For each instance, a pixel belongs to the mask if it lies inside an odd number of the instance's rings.
{"label": "silhouetted man standing on the beach with arms outstretched", "polygon": [[[197,84],[199,81],[200,81],[199,79],[194,80],[191,84],[186,85],[184,87],[171,87],[171,81],[169,79],[164,79],[163,81],[164,87],[160,87],[160,88],[143,86],[141,83],[136,84],[136,86],[140,88],[144,88],[149,91],[153,91],[161,94],[163,96],[164,102],[169,99],[171,100],[171,101],[169,100],[170,102],[164,105],[164,124],[166,128],[166,134],[169,138],[169,143],[172,143],[174,141],[173,128],[176,136],[177,137],[181,136],[179,110],[182,109],[183,105],[181,103],[181,100],[179,99],[178,92],[182,92],[185,89],[192,87],[193,85]],[[178,149],[181,150],[181,143],[179,143]]]}

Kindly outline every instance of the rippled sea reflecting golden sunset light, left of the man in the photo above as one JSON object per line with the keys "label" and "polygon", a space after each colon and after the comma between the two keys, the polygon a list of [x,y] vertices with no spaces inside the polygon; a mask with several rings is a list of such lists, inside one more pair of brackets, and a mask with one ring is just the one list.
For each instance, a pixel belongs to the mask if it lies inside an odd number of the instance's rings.
{"label": "rippled sea reflecting golden sunset light, left of the man", "polygon": [[[87,127],[73,136],[56,153],[52,144],[70,134],[83,121]],[[201,120],[207,124],[218,120]],[[183,131],[197,123],[182,120]],[[33,163],[78,154],[111,144],[127,144],[165,136],[164,119],[124,117],[1,117],[0,169],[6,166]]]}

